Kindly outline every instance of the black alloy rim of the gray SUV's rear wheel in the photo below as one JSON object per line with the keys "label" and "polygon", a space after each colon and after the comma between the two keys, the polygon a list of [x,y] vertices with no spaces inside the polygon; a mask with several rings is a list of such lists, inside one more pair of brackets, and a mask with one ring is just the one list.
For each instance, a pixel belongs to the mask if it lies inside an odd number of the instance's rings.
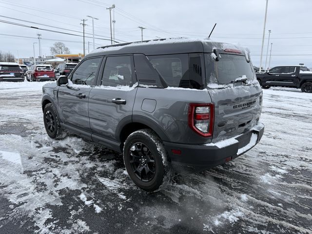
{"label": "black alloy rim of the gray SUV's rear wheel", "polygon": [[133,173],[143,182],[151,181],[156,172],[155,157],[143,143],[137,142],[130,148],[130,164]]}

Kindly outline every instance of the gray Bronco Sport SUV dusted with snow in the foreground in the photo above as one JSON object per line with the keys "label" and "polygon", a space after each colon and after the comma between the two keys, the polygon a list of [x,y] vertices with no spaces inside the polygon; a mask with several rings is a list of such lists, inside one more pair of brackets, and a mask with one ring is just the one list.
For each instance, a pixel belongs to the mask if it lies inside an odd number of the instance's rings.
{"label": "gray Bronco Sport SUV dusted with snow in the foreground", "polygon": [[123,153],[145,191],[166,185],[172,169],[207,170],[253,148],[261,107],[244,48],[192,39],[100,47],[42,96],[49,137],[70,132]]}

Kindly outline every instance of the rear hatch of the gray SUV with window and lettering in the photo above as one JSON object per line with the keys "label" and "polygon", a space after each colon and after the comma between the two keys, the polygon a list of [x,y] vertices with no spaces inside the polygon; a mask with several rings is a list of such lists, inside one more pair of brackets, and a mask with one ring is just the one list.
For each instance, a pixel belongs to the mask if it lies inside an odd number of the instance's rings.
{"label": "rear hatch of the gray SUV with window and lettering", "polygon": [[213,143],[250,130],[262,106],[262,90],[247,51],[214,52],[205,54],[207,89],[215,104]]}

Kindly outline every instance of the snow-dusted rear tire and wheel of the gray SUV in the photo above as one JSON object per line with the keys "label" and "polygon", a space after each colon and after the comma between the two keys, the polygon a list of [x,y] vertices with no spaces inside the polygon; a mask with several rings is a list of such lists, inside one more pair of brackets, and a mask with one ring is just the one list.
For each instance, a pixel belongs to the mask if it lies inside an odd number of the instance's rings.
{"label": "snow-dusted rear tire and wheel of the gray SUV", "polygon": [[130,134],[124,144],[123,160],[132,181],[144,191],[156,192],[171,180],[172,168],[167,151],[150,129]]}

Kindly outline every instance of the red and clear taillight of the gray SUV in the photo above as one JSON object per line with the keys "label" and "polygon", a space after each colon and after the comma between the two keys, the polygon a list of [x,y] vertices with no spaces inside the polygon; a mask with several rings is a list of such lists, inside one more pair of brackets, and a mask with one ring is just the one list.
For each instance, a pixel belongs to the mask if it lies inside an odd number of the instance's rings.
{"label": "red and clear taillight of the gray SUV", "polygon": [[190,103],[188,123],[202,137],[212,137],[214,131],[215,105],[213,103]]}

